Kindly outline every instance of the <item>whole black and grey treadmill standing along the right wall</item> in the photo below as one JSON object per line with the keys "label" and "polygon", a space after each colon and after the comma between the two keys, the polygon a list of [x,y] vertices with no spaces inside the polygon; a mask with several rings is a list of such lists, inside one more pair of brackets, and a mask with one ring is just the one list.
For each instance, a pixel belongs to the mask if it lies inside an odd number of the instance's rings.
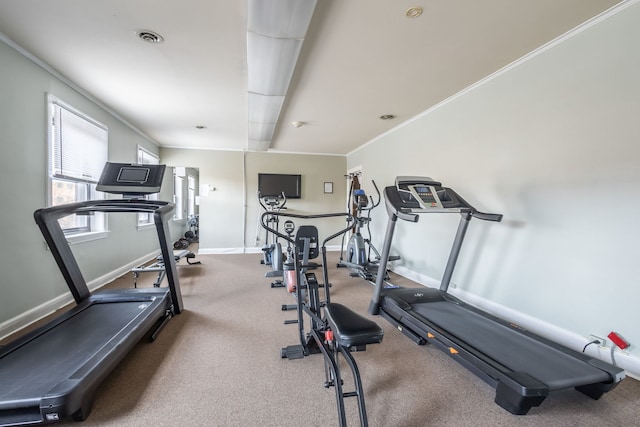
{"label": "whole black and grey treadmill standing along the right wall", "polygon": [[[389,220],[370,314],[384,317],[417,344],[436,344],[495,387],[495,402],[515,415],[539,406],[552,391],[573,387],[599,399],[624,379],[624,370],[616,366],[537,336],[447,292],[471,219],[499,222],[502,215],[477,211],[431,178],[397,177],[384,195]],[[461,216],[440,288],[385,288],[382,273],[398,218],[417,222],[429,213]]]}

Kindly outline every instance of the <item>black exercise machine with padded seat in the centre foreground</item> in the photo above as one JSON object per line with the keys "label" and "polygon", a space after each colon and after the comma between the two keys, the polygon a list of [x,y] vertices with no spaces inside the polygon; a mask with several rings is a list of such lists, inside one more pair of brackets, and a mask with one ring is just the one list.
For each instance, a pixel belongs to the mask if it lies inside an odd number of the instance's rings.
{"label": "black exercise machine with padded seat in the centre foreground", "polygon": [[[352,217],[348,213],[297,215],[278,212],[275,215],[301,219],[346,216],[347,219],[351,219],[347,221],[346,228],[327,237],[322,242],[320,249],[322,253],[324,286],[318,282],[315,273],[309,271],[305,266],[303,259],[297,255],[292,257],[294,271],[297,273],[295,286],[293,286],[293,288],[295,288],[296,293],[298,319],[295,323],[298,325],[300,344],[281,349],[280,356],[287,359],[301,359],[314,353],[321,353],[324,358],[325,367],[324,386],[326,388],[334,387],[339,425],[341,427],[347,425],[344,398],[356,397],[360,425],[368,426],[362,380],[356,361],[351,353],[352,351],[364,351],[368,344],[382,342],[384,331],[377,323],[355,313],[348,307],[331,302],[327,269],[326,244],[328,241],[343,235],[352,228]],[[290,233],[288,236],[285,236],[278,230],[270,228],[270,224],[267,223],[267,218],[268,213],[265,212],[261,217],[262,227],[271,231],[276,236],[287,240],[293,247],[294,254],[304,254],[310,250],[310,242],[312,239],[301,236],[300,229],[302,227],[298,230],[296,238],[292,239]],[[313,228],[315,229],[315,227]],[[315,234],[317,235],[317,229],[315,230]],[[321,287],[324,287],[324,300],[322,300],[320,296]],[[305,316],[308,316],[310,320],[308,332],[305,331],[304,326]],[[339,356],[344,358],[347,366],[351,370],[355,391],[345,392],[343,390],[344,382],[340,373]]]}

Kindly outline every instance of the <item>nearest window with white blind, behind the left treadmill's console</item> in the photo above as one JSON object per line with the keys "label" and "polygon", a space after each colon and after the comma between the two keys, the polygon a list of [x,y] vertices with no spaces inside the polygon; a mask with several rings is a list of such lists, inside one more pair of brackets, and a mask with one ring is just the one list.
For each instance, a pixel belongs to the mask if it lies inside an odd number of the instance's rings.
{"label": "nearest window with white blind, behind the left treadmill's console", "polygon": [[[107,127],[52,95],[47,98],[48,206],[101,199],[96,191],[108,158]],[[106,216],[69,215],[60,220],[67,235],[106,231]]]}

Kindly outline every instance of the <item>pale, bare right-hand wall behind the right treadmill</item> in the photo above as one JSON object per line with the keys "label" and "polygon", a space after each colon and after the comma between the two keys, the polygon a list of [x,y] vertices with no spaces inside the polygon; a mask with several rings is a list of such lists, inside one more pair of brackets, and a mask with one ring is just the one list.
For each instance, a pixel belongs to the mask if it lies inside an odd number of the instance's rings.
{"label": "pale, bare right-hand wall behind the right treadmill", "polygon": [[[384,185],[431,176],[504,214],[472,222],[457,291],[580,350],[582,337],[618,331],[632,358],[616,359],[640,375],[639,75],[633,2],[380,136],[347,167]],[[386,217],[374,212],[379,244]],[[439,280],[457,221],[400,223],[400,270]]]}

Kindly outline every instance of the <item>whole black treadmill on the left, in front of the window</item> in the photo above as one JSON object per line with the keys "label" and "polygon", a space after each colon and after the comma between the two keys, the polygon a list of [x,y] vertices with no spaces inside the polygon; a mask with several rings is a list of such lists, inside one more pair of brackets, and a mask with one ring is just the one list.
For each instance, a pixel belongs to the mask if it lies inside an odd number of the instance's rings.
{"label": "whole black treadmill on the left, in front of the window", "polygon": [[[46,325],[0,348],[0,426],[84,420],[97,387],[144,337],[155,339],[183,310],[168,220],[174,205],[140,197],[160,191],[164,165],[107,163],[96,187],[125,194],[39,209],[36,223],[75,302]],[[91,293],[58,219],[96,212],[153,213],[168,287]]]}

